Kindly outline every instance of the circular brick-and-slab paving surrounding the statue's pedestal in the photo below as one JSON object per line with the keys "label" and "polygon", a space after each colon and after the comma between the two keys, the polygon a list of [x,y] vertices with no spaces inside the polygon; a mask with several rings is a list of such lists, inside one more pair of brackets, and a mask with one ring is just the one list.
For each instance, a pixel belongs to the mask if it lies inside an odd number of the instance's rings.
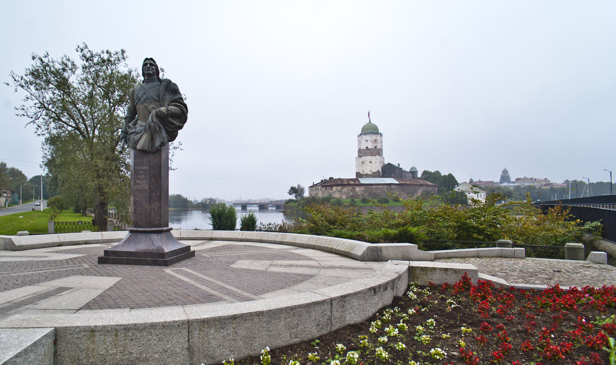
{"label": "circular brick-and-slab paving surrounding the statue's pedestal", "polygon": [[172,266],[99,265],[113,244],[0,251],[0,318],[258,300],[341,284],[383,266],[285,245],[184,243],[195,257]]}

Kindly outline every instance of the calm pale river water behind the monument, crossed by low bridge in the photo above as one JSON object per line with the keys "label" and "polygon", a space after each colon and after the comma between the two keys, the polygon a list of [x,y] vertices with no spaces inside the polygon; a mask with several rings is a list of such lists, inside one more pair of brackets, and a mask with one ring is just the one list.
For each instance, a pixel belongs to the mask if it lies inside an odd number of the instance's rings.
{"label": "calm pale river water behind the monument, crossed by low bridge", "polygon": [[[256,208],[248,208],[248,211],[237,211],[237,229],[240,229],[241,216],[252,211],[257,216],[257,224],[259,223],[281,223],[282,221],[291,223],[300,215],[299,213],[283,213],[270,209],[267,211],[259,211]],[[212,223],[209,221],[209,213],[203,213],[201,210],[193,209],[173,209],[169,210],[169,226],[173,229],[212,229]]]}

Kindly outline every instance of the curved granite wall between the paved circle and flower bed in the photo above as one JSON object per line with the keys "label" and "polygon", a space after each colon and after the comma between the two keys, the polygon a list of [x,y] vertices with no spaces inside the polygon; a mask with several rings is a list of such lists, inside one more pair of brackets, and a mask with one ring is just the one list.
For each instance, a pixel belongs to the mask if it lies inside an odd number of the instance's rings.
{"label": "curved granite wall between the paved circle and flower bed", "polygon": [[214,364],[364,321],[407,286],[408,266],[389,262],[372,276],[299,295],[131,311],[15,314],[0,321],[0,328],[55,328],[55,364]]}

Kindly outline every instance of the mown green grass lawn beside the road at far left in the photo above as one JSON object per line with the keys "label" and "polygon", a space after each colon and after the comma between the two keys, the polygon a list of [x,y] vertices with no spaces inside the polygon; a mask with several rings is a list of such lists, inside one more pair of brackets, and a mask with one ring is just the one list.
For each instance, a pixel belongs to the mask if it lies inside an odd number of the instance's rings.
{"label": "mown green grass lawn beside the road at far left", "polygon": [[[30,234],[47,233],[47,221],[51,215],[51,209],[47,208],[43,211],[34,210],[23,213],[15,213],[6,216],[0,216],[0,235],[12,236],[18,231],[28,231]],[[22,216],[23,218],[19,218]],[[91,216],[81,216],[80,213],[75,213],[71,210],[65,210],[55,218],[59,222],[76,222],[76,221],[91,221]]]}

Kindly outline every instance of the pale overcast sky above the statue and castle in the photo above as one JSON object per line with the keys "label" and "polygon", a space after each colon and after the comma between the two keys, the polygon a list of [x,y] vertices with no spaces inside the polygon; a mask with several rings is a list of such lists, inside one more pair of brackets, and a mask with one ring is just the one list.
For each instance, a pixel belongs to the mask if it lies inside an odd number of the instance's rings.
{"label": "pale overcast sky above the statue and castle", "polygon": [[[460,183],[616,172],[616,2],[10,1],[0,5],[0,160],[41,142],[4,85],[77,44],[153,57],[185,94],[169,192],[284,199],[355,176],[370,117],[386,162]],[[585,180],[585,179],[584,179]],[[307,190],[307,189],[306,189]]]}

